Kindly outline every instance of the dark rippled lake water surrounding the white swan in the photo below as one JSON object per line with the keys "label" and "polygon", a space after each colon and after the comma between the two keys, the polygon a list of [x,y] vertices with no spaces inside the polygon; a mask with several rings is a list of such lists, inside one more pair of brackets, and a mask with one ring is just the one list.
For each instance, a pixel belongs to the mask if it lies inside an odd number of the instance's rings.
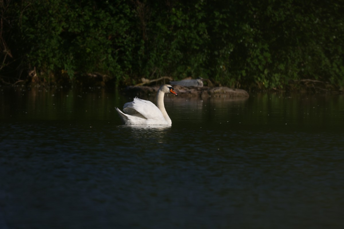
{"label": "dark rippled lake water surrounding the white swan", "polygon": [[344,227],[343,95],[171,94],[154,128],[128,101],[0,88],[0,228]]}

